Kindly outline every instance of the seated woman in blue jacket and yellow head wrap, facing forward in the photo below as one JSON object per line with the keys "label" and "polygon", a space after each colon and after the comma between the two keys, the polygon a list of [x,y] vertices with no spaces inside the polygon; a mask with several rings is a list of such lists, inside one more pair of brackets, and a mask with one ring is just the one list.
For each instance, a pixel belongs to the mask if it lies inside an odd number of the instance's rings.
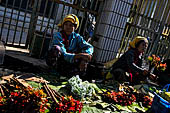
{"label": "seated woman in blue jacket and yellow head wrap, facing forward", "polygon": [[87,63],[91,61],[93,46],[82,36],[75,33],[79,27],[76,15],[67,15],[61,24],[62,30],[53,35],[52,44],[46,60],[47,65],[57,67],[58,71],[67,72],[77,69],[85,71]]}

